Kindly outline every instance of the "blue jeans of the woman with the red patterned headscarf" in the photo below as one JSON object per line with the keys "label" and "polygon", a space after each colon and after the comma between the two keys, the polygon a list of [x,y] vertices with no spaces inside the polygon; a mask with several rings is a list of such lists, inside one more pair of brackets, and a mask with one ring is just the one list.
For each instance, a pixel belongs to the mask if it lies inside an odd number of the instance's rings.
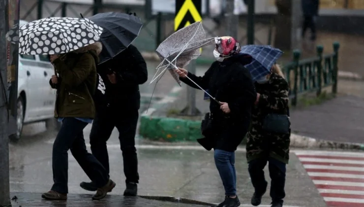
{"label": "blue jeans of the woman with the red patterned headscarf", "polygon": [[215,149],[215,165],[220,174],[226,196],[236,195],[235,152]]}

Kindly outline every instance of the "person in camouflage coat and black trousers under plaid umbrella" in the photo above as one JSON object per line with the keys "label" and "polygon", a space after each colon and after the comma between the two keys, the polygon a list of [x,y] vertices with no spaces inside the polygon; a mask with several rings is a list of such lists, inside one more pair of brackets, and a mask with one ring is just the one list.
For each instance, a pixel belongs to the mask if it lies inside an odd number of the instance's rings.
{"label": "person in camouflage coat and black trousers under plaid umbrella", "polygon": [[261,203],[268,182],[263,169],[269,162],[272,207],[282,207],[285,197],[285,173],[289,160],[290,129],[288,134],[269,133],[263,130],[263,120],[270,113],[289,116],[289,86],[278,65],[273,65],[271,74],[255,83],[257,100],[252,109],[251,128],[247,134],[246,158],[255,193],[253,206]]}

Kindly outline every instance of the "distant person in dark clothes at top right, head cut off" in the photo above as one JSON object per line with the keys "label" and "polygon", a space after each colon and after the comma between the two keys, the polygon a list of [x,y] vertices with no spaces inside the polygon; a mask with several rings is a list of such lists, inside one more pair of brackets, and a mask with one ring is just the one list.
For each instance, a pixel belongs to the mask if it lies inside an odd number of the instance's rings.
{"label": "distant person in dark clothes at top right, head cut off", "polygon": [[303,28],[302,37],[309,28],[311,30],[311,40],[316,39],[316,17],[318,16],[318,10],[320,2],[319,0],[301,0],[303,11]]}

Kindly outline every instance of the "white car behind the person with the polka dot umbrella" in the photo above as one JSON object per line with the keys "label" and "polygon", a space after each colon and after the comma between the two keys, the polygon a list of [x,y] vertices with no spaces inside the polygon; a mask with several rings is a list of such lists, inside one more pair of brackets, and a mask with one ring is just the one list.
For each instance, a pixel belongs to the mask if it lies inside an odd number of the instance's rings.
{"label": "white car behind the person with the polka dot umbrella", "polygon": [[[28,22],[20,20],[20,25]],[[17,133],[10,139],[20,139],[24,124],[46,121],[47,128],[59,128],[54,118],[56,90],[49,85],[54,68],[47,55],[19,55]]]}

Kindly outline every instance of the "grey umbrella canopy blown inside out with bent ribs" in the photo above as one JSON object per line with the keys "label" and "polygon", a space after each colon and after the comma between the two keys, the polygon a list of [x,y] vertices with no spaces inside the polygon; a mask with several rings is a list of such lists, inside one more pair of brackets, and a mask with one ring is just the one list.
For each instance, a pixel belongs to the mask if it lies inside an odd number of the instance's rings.
{"label": "grey umbrella canopy blown inside out with bent ribs", "polygon": [[[157,67],[168,69],[172,77],[181,85],[175,68],[184,68],[191,60],[197,59],[201,53],[200,48],[214,43],[214,38],[206,39],[206,33],[201,22],[195,22],[167,37],[156,49],[156,52],[162,61]],[[159,76],[158,75],[158,76]],[[153,78],[154,81],[156,78]],[[151,82],[152,83],[152,82]]]}

